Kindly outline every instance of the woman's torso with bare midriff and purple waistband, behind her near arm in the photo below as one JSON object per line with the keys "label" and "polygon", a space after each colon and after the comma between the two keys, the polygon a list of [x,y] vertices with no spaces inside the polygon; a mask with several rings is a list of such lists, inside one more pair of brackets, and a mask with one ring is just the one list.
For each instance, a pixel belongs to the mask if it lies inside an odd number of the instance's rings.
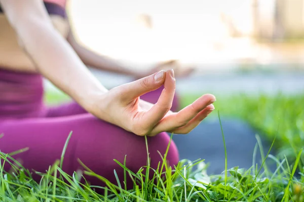
{"label": "woman's torso with bare midriff and purple waistband, behind her near arm", "polygon": [[[58,5],[52,4],[47,10],[54,27],[66,38],[69,26],[63,7],[58,9]],[[43,94],[42,75],[35,71],[34,64],[19,46],[14,29],[0,13],[0,123],[15,118],[44,117]]]}

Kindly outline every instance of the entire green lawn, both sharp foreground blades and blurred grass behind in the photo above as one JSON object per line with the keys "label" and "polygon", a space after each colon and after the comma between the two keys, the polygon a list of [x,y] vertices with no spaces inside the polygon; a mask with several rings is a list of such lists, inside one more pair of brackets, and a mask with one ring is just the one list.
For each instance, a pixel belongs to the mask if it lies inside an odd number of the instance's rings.
{"label": "entire green lawn, both sharp foreground blades and blurred grass behind", "polygon": [[[182,95],[182,105],[195,100],[198,95]],[[49,103],[66,99],[60,94],[47,94]],[[188,162],[181,160],[175,168],[167,168],[166,160],[155,173],[155,180],[147,180],[143,169],[132,173],[124,167],[123,162],[117,162],[131,175],[134,188],[126,190],[123,183],[110,184],[106,179],[97,176],[86,169],[86,174],[98,177],[108,184],[105,194],[100,195],[94,187],[81,184],[79,174],[65,174],[61,162],[50,167],[41,182],[34,182],[30,174],[16,167],[14,174],[3,171],[0,167],[0,200],[1,201],[303,201],[303,159],[302,142],[304,138],[304,95],[297,96],[266,96],[232,95],[217,96],[215,108],[221,116],[234,116],[248,121],[260,135],[265,135],[273,146],[278,149],[277,157],[268,156],[277,161],[278,169],[271,173],[266,168],[253,166],[245,171],[241,168],[227,168],[222,175],[207,175],[204,162]],[[217,116],[213,113],[212,116]],[[223,134],[224,135],[224,134]],[[276,137],[276,139],[275,139]],[[275,139],[275,141],[273,141]],[[67,141],[68,145],[68,141]],[[63,148],[64,155],[64,148]],[[8,159],[1,154],[1,163]],[[13,159],[10,160],[13,162]],[[8,162],[6,162],[8,163]],[[194,165],[198,164],[196,170]],[[21,166],[21,165],[19,165]],[[237,166],[237,165],[236,165]],[[149,165],[147,163],[147,168]],[[171,172],[171,169],[175,172]],[[163,178],[165,174],[166,179]],[[60,174],[58,177],[54,177]],[[294,176],[297,174],[297,177]],[[118,179],[118,181],[120,181]],[[155,182],[155,183],[154,183]]]}

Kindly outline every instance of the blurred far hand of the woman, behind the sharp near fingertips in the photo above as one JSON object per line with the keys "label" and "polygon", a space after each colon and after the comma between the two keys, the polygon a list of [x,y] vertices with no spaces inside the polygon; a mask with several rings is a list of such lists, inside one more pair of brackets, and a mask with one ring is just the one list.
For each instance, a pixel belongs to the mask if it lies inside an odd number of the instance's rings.
{"label": "blurred far hand of the woman, behind the sharp near fingertips", "polygon": [[182,64],[180,64],[180,62],[177,60],[169,60],[158,63],[154,68],[148,70],[147,72],[136,74],[135,78],[140,79],[145,76],[151,75],[155,72],[159,72],[161,70],[169,70],[169,69],[174,70],[175,77],[187,77],[195,70],[195,68],[192,66],[182,67]]}

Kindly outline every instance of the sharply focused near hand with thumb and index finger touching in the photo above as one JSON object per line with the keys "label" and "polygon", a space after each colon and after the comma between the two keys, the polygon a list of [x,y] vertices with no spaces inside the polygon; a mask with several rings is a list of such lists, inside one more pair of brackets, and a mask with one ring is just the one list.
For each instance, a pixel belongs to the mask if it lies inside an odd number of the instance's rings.
{"label": "sharply focused near hand with thumb and index finger touching", "polygon": [[[158,102],[153,105],[139,96],[164,85]],[[214,95],[205,94],[177,113],[170,111],[175,92],[173,70],[160,71],[127,83],[97,97],[90,113],[139,136],[160,132],[186,134],[194,129],[214,107]]]}

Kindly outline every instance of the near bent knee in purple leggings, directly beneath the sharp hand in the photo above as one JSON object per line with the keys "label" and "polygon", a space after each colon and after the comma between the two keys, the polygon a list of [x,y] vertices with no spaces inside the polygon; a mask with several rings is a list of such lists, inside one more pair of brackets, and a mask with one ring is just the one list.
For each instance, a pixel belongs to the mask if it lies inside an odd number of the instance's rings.
{"label": "near bent knee in purple leggings, directly beneath the sharp hand", "polygon": [[[162,165],[164,157],[166,157],[166,164],[172,169],[179,161],[177,147],[165,132],[154,137],[146,137],[146,144],[145,137],[137,136],[100,120],[91,119],[82,126],[90,126],[90,130],[86,131],[87,127],[80,127],[82,129],[74,131],[74,138],[78,142],[73,153],[74,158],[79,158],[91,170],[112,183],[117,181],[114,170],[119,179],[124,179],[125,173],[124,169],[113,161],[114,159],[124,164],[126,158],[127,169],[134,173],[147,165],[147,157],[150,159],[150,167],[155,170],[159,164]],[[146,148],[148,148],[148,153]],[[86,178],[94,185],[105,185],[98,179],[89,176]],[[127,178],[127,186],[132,188],[133,183],[129,177]]]}

